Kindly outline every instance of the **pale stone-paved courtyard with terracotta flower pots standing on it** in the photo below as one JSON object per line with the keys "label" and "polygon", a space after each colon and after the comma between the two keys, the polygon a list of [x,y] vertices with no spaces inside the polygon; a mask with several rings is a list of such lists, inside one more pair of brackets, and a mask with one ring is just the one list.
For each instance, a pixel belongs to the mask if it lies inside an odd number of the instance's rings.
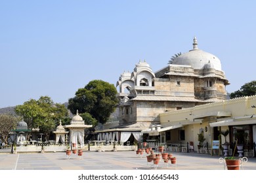
{"label": "pale stone-paved courtyard with terracotta flower pots standing on it", "polygon": [[[0,151],[1,152],[1,151]],[[163,161],[158,169],[173,170],[223,170],[219,163],[221,156],[197,153],[171,152],[177,158],[177,167],[168,166]],[[222,157],[223,158],[223,157]],[[244,170],[256,170],[256,158],[248,158]],[[0,153],[0,170],[147,170],[154,169],[153,163],[147,163],[146,155],[140,157],[136,152],[83,152],[83,157],[66,152],[56,153]]]}

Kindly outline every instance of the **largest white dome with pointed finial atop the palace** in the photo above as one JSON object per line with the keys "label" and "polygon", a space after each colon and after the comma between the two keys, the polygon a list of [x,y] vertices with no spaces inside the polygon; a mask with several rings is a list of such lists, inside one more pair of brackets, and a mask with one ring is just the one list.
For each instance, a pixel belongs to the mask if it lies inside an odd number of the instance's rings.
{"label": "largest white dome with pointed finial atop the palace", "polygon": [[221,61],[217,56],[213,54],[209,54],[208,52],[204,52],[203,50],[198,49],[198,43],[196,37],[194,38],[193,50],[181,54],[173,60],[172,64],[175,65],[190,65],[194,69],[204,69],[209,67],[209,63],[211,63],[211,69],[215,69],[221,71]]}

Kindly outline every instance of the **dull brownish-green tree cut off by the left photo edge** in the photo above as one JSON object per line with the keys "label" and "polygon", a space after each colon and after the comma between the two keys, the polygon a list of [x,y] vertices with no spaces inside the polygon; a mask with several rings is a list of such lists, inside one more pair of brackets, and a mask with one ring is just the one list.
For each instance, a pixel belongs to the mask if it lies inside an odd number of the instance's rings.
{"label": "dull brownish-green tree cut off by the left photo edge", "polygon": [[3,142],[7,143],[8,134],[17,125],[18,118],[12,114],[0,114],[0,134]]}

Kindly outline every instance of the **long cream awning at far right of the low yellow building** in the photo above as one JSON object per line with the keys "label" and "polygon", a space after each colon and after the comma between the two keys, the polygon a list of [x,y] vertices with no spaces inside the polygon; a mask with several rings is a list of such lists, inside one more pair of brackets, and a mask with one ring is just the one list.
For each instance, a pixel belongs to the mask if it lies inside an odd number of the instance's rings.
{"label": "long cream awning at far right of the low yellow building", "polygon": [[216,127],[216,126],[228,126],[228,125],[249,125],[249,124],[255,124],[256,125],[256,120],[236,120],[236,119],[230,119],[230,120],[223,120],[219,122],[214,122],[210,124],[210,127]]}

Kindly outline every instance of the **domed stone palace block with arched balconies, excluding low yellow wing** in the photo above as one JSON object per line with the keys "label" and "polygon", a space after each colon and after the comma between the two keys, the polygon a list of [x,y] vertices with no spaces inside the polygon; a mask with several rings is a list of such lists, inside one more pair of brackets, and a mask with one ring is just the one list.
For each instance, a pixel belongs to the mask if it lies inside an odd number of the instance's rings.
{"label": "domed stone palace block with arched balconies, excluding low yellow wing", "polygon": [[143,129],[159,124],[159,114],[226,99],[221,61],[198,49],[181,54],[160,71],[153,73],[146,61],[139,61],[133,73],[125,72],[119,86],[119,125],[137,124]]}

